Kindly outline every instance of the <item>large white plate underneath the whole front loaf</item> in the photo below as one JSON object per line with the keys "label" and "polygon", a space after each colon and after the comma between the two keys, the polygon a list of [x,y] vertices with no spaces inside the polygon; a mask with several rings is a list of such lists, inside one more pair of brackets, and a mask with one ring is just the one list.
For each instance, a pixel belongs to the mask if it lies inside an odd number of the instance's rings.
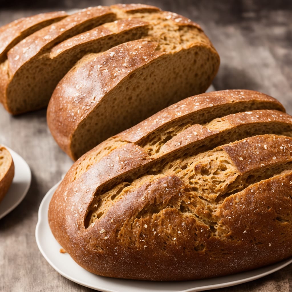
{"label": "large white plate underneath the whole front loaf", "polygon": [[68,253],[60,253],[60,244],[55,240],[48,224],[48,206],[58,184],[45,195],[39,207],[36,225],[36,243],[48,263],[61,275],[80,285],[107,292],[191,292],[211,290],[252,281],[271,274],[292,263],[292,259],[235,275],[197,281],[151,282],[112,279],[92,274],[72,260]]}

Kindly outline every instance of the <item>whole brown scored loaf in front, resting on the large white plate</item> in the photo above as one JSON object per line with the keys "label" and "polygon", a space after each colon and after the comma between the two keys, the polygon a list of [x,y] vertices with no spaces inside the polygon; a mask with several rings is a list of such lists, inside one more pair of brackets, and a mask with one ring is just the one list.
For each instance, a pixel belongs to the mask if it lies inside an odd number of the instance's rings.
{"label": "whole brown scored loaf in front, resting on the large white plate", "polygon": [[51,199],[51,230],[107,277],[202,279],[288,258],[291,136],[265,94],[187,98],[80,157]]}

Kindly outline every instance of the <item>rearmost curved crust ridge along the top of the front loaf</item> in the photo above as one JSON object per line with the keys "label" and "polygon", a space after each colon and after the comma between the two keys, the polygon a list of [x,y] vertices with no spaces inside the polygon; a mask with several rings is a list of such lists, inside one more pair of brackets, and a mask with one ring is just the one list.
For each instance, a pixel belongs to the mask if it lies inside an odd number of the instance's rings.
{"label": "rearmost curved crust ridge along the top of the front loaf", "polygon": [[[162,109],[157,114],[140,122],[139,124],[127,129],[119,134],[121,139],[138,143],[150,133],[160,128],[183,119],[187,119],[192,115],[199,116],[208,112],[208,119],[214,119],[217,116],[212,115],[215,108],[220,107],[220,111],[224,112],[224,105],[237,110],[240,104],[250,103],[259,105],[263,109],[273,108],[285,112],[284,107],[279,101],[269,95],[252,90],[222,90],[210,93],[202,93],[189,98],[185,98],[174,105]],[[254,108],[256,109],[256,107]],[[228,108],[228,111],[232,109]],[[207,121],[207,120],[206,120]],[[204,123],[204,120],[195,121]]]}

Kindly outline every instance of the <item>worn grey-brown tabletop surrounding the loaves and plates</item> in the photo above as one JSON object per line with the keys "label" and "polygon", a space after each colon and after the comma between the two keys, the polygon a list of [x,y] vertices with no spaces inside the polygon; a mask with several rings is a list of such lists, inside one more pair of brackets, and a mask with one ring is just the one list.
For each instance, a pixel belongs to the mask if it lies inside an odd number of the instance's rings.
{"label": "worn grey-brown tabletop surrounding the loaves and plates", "polygon": [[[49,10],[127,3],[74,0],[52,1],[49,6],[19,1],[16,6],[15,1],[2,2],[0,25]],[[221,57],[220,70],[213,82],[217,90],[262,91],[279,99],[292,114],[291,1],[143,3],[185,15],[203,27]],[[0,220],[0,291],[93,291],[58,274],[36,245],[39,204],[72,164],[50,135],[46,110],[12,117],[0,105],[0,143],[19,153],[32,171],[32,183],[25,199]],[[292,265],[261,279],[214,291],[292,291]]]}

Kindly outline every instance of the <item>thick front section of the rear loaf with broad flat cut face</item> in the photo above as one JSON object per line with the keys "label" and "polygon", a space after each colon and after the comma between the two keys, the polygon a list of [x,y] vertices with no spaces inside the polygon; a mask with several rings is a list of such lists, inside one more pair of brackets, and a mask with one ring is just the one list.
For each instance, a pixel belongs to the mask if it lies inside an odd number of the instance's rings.
{"label": "thick front section of the rear loaf with broad flat cut face", "polygon": [[[112,9],[125,17],[120,8]],[[52,95],[48,126],[73,159],[158,110],[206,91],[218,70],[218,54],[196,24],[160,10],[131,17],[150,23],[146,36],[84,56]]]}

